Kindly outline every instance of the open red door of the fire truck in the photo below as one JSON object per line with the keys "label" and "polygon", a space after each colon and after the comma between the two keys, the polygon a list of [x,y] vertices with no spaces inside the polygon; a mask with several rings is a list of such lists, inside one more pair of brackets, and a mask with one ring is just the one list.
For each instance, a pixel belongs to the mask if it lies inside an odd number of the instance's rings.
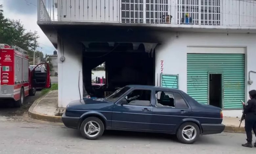
{"label": "open red door of the fire truck", "polygon": [[[41,65],[46,65],[46,72],[35,71]],[[50,68],[48,63],[41,63],[33,68],[31,71],[31,86],[34,88],[50,88]]]}

